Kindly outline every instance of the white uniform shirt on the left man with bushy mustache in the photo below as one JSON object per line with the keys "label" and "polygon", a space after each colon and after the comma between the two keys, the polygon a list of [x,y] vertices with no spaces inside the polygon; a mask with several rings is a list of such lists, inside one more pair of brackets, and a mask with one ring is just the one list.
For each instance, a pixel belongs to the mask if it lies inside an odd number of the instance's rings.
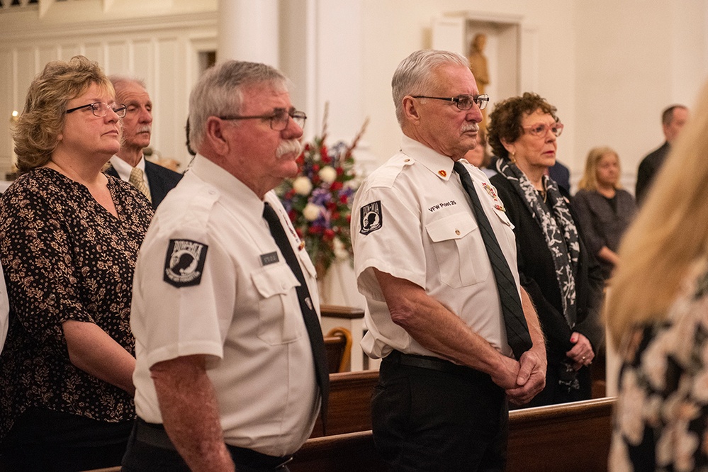
{"label": "white uniform shirt on the left man with bushy mustache", "polygon": [[[319,310],[315,267],[275,193],[265,201],[286,228]],[[198,155],[157,209],[133,284],[135,406],[143,420],[162,423],[150,366],[206,354],[225,442],[285,456],[312,432],[320,395],[298,280],[263,208],[241,181]]]}

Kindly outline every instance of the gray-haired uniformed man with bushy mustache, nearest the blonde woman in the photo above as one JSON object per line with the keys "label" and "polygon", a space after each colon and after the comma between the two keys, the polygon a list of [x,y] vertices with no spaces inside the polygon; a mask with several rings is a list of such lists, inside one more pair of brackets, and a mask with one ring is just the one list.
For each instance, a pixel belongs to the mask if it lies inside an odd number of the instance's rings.
{"label": "gray-haired uniformed man with bushy mustache, nearest the blonde woman", "polygon": [[135,268],[124,471],[287,471],[326,410],[315,268],[273,191],[298,172],[306,118],[287,85],[228,61],[191,92],[197,154]]}

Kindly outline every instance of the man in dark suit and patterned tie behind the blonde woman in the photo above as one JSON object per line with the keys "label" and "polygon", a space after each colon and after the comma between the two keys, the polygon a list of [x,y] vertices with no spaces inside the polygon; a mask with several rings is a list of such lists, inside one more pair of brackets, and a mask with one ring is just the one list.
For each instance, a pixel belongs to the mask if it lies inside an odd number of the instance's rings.
{"label": "man in dark suit and patterned tie behind the blonde woman", "polygon": [[106,174],[129,181],[157,208],[167,192],[174,189],[182,174],[145,160],[143,150],[150,146],[152,101],[145,83],[129,77],[111,76],[116,102],[128,107],[123,118],[123,143],[111,157]]}

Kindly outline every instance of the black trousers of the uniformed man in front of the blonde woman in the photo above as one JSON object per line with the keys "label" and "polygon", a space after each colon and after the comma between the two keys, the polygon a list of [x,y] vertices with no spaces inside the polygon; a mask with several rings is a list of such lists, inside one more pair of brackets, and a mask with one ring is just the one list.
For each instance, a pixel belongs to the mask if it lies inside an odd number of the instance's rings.
{"label": "black trousers of the uniformed man in front of the blonde woman", "polygon": [[[226,445],[238,472],[288,472],[290,457],[274,457]],[[137,418],[123,457],[123,472],[190,472],[162,425]]]}

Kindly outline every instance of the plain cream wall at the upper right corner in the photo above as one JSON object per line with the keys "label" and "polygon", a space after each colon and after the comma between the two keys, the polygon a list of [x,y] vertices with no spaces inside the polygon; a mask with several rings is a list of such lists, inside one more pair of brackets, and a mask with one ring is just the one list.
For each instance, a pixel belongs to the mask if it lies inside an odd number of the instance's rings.
{"label": "plain cream wall at the upper right corner", "polygon": [[578,2],[574,180],[590,148],[609,145],[634,193],[639,162],[663,143],[661,112],[693,106],[708,79],[707,18],[704,1]]}

